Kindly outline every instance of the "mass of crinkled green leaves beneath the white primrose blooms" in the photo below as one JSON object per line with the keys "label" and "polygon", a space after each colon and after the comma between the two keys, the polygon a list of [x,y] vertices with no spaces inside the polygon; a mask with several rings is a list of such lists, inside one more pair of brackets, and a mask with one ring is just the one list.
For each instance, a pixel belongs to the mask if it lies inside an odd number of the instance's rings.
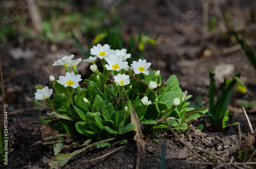
{"label": "mass of crinkled green leaves beneath the white primrose blooms", "polygon": [[[104,59],[101,61],[105,64]],[[69,68],[66,70],[70,71]],[[168,130],[165,117],[175,131],[184,132],[188,124],[208,111],[207,108],[195,110],[188,107],[190,95],[184,96],[175,75],[164,83],[159,71],[135,75],[135,70],[121,69],[118,73],[125,76],[125,81],[129,79],[129,85],[125,86],[121,84],[124,81],[116,80],[115,77],[113,80],[113,75],[118,75],[113,71],[103,69],[103,73],[97,72],[100,78],[95,78],[97,74],[92,75],[75,89],[64,87],[58,81],[52,82],[56,91],[54,99],[52,102],[46,99],[53,111],[48,114],[50,117],[40,117],[42,123],[55,123],[60,132],[75,135],[79,141],[121,138],[122,144],[127,141],[124,139],[126,136],[136,135],[137,140],[141,141],[142,134],[154,135]],[[68,85],[69,81],[66,82]],[[97,148],[110,145],[107,141],[95,144]],[[62,144],[56,143],[55,154],[62,148]],[[63,161],[70,158],[62,155],[58,157]]]}

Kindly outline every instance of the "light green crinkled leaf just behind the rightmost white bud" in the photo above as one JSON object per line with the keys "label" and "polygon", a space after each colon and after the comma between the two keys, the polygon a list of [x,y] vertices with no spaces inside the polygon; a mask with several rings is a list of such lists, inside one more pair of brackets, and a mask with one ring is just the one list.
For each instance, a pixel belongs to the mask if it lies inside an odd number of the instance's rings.
{"label": "light green crinkled leaf just behind the rightmost white bud", "polygon": [[158,96],[158,102],[163,102],[168,105],[170,109],[174,104],[174,99],[182,99],[183,93],[181,91],[167,92]]}

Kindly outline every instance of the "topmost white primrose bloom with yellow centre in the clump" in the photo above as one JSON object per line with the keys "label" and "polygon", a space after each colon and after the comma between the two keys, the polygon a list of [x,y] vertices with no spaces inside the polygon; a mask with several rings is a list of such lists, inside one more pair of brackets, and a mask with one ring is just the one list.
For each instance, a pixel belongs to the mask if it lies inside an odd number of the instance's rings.
{"label": "topmost white primrose bloom with yellow centre in the clump", "polygon": [[91,48],[91,55],[97,56],[100,59],[105,58],[106,56],[108,56],[108,54],[112,53],[111,49],[110,49],[110,45],[108,44],[104,44],[103,46],[101,44],[97,44],[97,46],[93,46],[93,48]]}

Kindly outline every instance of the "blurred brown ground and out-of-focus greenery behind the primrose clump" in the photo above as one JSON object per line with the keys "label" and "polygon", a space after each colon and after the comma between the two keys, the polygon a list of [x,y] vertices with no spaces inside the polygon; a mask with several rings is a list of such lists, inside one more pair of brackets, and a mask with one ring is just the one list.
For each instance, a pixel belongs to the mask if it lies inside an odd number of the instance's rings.
{"label": "blurred brown ground and out-of-focus greenery behind the primrose clump", "polygon": [[[164,81],[176,75],[181,89],[198,95],[206,106],[209,71],[216,72],[217,97],[224,78],[241,72],[247,93],[234,90],[231,111],[242,112],[237,98],[246,103],[256,99],[256,70],[247,49],[231,33],[238,33],[256,51],[255,1],[2,0],[0,9],[8,112],[33,108],[35,87],[49,86],[50,75],[58,79],[65,74],[65,68],[52,66],[55,60],[71,54],[86,59],[97,43],[127,49],[130,63],[146,59]],[[83,79],[91,75],[89,67],[86,62],[78,65]],[[247,108],[252,113],[256,109],[253,104]],[[28,116],[31,119],[18,123],[34,123],[34,115]]]}

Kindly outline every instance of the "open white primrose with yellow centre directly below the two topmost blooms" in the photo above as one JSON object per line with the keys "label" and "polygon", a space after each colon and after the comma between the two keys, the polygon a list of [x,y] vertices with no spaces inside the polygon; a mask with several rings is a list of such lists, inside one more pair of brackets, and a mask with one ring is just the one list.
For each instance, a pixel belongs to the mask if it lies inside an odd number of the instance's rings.
{"label": "open white primrose with yellow centre directly below the two topmost blooms", "polygon": [[122,57],[115,57],[114,60],[112,58],[105,58],[106,62],[108,64],[105,65],[107,70],[116,70],[119,71],[122,68],[126,68],[126,65],[128,64],[128,62],[124,61],[123,62],[123,58]]}

